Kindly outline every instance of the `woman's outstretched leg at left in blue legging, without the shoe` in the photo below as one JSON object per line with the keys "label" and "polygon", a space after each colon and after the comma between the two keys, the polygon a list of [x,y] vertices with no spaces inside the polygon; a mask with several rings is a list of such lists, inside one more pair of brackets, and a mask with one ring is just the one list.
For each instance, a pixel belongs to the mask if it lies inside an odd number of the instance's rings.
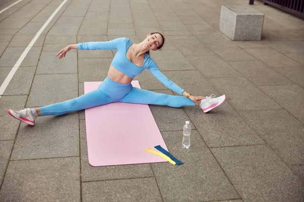
{"label": "woman's outstretched leg at left in blue legging, without the shoe", "polygon": [[99,89],[96,89],[94,91],[91,91],[77,98],[70,99],[62,103],[56,103],[53,105],[41,107],[40,110],[41,116],[60,116],[68,112],[88,109],[99,105],[105,105],[111,102],[113,102],[111,98],[105,96],[105,94],[102,93]]}

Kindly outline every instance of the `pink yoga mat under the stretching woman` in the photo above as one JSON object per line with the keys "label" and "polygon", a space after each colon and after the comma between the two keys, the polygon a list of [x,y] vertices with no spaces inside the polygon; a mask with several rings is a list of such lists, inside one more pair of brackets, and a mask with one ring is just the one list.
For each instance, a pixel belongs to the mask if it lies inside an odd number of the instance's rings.
{"label": "pink yoga mat under the stretching woman", "polygon": [[[85,93],[101,82],[85,82]],[[138,87],[138,81],[132,81]],[[110,103],[85,110],[89,163],[112,166],[167,162],[148,153],[156,145],[167,149],[148,105]]]}

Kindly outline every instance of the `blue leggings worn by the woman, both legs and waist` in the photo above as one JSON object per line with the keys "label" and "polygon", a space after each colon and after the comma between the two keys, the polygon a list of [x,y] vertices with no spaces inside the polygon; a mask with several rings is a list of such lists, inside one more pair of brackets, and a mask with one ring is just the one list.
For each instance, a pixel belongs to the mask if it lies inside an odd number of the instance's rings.
{"label": "blue leggings worn by the woman, both legs and waist", "polygon": [[167,105],[174,108],[195,106],[195,102],[184,96],[156,93],[149,90],[133,87],[131,84],[122,84],[106,77],[94,91],[62,103],[41,107],[41,116],[60,116],[68,112],[79,111],[113,102]]}

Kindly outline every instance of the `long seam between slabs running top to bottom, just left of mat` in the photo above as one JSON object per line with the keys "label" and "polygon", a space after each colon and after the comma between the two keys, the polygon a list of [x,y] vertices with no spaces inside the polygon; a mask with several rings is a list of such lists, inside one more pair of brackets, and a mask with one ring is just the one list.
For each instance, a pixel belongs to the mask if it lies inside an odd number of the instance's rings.
{"label": "long seam between slabs running top to bottom, just left of mat", "polygon": [[[80,26],[79,26],[79,28],[78,28],[78,31],[77,31],[77,34],[76,34],[76,43],[78,43],[78,33],[79,33],[79,30],[80,30],[80,28],[81,28],[81,26],[82,26],[82,24],[83,24],[83,22],[84,22],[84,20],[85,20],[85,17],[86,17],[86,15],[87,15],[87,13],[88,13],[88,10],[89,10],[89,8],[90,8],[90,6],[91,6],[91,4],[92,4],[92,0],[90,1],[90,4],[88,5],[88,8],[87,8],[87,11],[86,11],[86,14],[84,15],[84,17],[83,17],[83,19],[82,19],[82,21],[81,21],[81,23],[80,23]],[[79,96],[79,67],[78,67],[78,51],[76,52],[76,56],[77,56],[77,86],[78,86],[78,96]],[[83,194],[82,194],[82,164],[81,164],[81,132],[80,132],[80,113],[78,112],[78,132],[79,132],[79,173],[80,173],[80,176],[79,176],[79,183],[80,183],[80,201],[82,202],[83,201],[83,198],[82,198],[82,196],[83,196]],[[85,148],[86,149],[86,148]]]}

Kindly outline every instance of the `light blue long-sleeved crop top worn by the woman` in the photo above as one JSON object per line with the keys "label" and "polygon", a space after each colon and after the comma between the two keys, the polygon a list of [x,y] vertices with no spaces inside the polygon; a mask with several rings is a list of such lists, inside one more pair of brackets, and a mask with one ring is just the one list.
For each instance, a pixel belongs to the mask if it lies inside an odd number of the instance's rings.
{"label": "light blue long-sleeved crop top worn by the woman", "polygon": [[145,54],[142,67],[135,65],[127,58],[126,54],[128,48],[132,45],[132,43],[133,42],[128,38],[117,38],[110,41],[78,43],[77,48],[80,50],[117,49],[118,51],[111,63],[111,65],[117,70],[121,71],[131,78],[134,78],[143,70],[148,69],[167,88],[181,95],[184,90],[176,85],[173,81],[168,79],[159,70],[157,64],[150,58],[148,54]]}

